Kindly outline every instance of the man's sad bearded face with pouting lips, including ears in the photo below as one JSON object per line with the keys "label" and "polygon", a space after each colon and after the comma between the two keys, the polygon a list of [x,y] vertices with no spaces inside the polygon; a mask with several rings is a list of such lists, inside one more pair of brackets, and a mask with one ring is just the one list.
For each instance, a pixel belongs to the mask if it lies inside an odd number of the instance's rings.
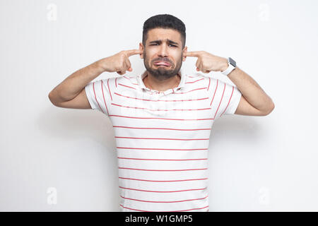
{"label": "man's sad bearded face with pouting lips, including ears", "polygon": [[[146,45],[139,44],[143,50],[141,58],[147,71],[158,80],[165,80],[175,76],[186,57],[187,47],[182,49],[181,34],[177,30],[154,28],[148,31]],[[164,61],[165,65],[158,63]]]}

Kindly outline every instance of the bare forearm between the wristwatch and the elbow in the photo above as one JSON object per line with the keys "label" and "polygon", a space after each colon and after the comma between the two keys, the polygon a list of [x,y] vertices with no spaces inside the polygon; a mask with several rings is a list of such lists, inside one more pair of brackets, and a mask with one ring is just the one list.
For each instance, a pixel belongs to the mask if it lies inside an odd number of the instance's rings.
{"label": "bare forearm between the wristwatch and the elbow", "polygon": [[254,79],[238,67],[228,74],[228,78],[237,86],[250,105],[261,112],[273,108],[273,101]]}

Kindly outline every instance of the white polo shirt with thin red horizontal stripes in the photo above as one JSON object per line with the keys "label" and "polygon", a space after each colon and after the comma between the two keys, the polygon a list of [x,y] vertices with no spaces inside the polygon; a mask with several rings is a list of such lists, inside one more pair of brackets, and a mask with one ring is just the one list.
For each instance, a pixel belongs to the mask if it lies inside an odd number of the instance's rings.
{"label": "white polo shirt with thin red horizontal stripes", "polygon": [[234,114],[242,93],[216,78],[179,71],[164,92],[138,76],[86,85],[92,109],[110,117],[122,211],[208,211],[208,143],[214,120]]}

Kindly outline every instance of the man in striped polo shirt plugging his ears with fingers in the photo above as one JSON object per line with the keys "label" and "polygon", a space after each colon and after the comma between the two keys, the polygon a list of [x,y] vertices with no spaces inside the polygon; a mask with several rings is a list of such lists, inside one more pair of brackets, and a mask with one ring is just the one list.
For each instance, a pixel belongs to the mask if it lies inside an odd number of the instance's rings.
{"label": "man in striped polo shirt plugging his ears with fingers", "polygon": [[[122,211],[208,211],[208,142],[223,114],[265,116],[273,101],[231,58],[187,52],[185,26],[175,16],[148,18],[139,49],[122,51],[76,71],[49,100],[57,107],[97,109],[115,132]],[[132,71],[139,54],[146,71],[91,82],[102,72]],[[235,83],[180,71],[221,71]]]}

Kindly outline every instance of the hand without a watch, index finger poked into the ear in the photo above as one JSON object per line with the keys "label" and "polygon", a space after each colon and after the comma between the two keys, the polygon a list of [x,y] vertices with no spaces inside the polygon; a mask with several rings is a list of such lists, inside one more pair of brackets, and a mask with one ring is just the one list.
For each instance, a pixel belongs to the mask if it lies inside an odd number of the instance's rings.
{"label": "hand without a watch, index finger poked into the ear", "polygon": [[142,53],[143,52],[140,49],[123,50],[111,57],[100,59],[98,63],[105,71],[117,71],[119,75],[123,75],[124,73],[126,73],[126,71],[132,71],[129,57]]}

